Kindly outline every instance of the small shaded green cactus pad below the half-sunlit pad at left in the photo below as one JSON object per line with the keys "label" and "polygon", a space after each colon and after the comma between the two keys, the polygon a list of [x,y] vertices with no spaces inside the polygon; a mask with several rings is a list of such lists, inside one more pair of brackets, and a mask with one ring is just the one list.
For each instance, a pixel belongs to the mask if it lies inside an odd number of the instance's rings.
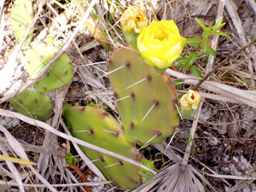
{"label": "small shaded green cactus pad below the half-sunlit pad at left", "polygon": [[47,120],[53,113],[53,103],[49,100],[49,96],[31,88],[24,90],[9,102],[18,113],[34,119]]}

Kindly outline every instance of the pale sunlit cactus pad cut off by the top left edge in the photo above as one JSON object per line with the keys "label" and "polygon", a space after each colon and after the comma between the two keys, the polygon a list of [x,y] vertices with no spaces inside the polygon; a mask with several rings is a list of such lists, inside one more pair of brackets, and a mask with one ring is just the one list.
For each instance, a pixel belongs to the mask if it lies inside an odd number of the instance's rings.
{"label": "pale sunlit cactus pad cut off by the top left edge", "polygon": [[[28,28],[32,24],[34,18],[32,0],[16,0],[11,9],[11,18],[17,41],[20,42],[28,32]],[[31,39],[32,32],[29,33],[23,47],[27,47],[30,44]]]}

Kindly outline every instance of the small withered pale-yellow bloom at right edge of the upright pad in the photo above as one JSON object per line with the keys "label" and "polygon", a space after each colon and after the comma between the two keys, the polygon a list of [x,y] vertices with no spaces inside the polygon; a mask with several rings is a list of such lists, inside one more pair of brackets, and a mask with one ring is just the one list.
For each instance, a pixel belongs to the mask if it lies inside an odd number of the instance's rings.
{"label": "small withered pale-yellow bloom at right edge of the upright pad", "polygon": [[180,104],[184,110],[197,109],[201,101],[201,96],[197,91],[189,90],[180,99]]}

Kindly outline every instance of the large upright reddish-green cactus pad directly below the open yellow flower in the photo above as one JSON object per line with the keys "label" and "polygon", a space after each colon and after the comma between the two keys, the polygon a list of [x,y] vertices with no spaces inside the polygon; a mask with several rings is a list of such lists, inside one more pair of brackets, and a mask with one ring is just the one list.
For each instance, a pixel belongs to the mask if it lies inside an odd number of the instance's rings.
{"label": "large upright reddish-green cactus pad directly below the open yellow flower", "polygon": [[109,79],[125,138],[131,143],[161,143],[179,124],[172,79],[157,73],[131,48],[119,48],[109,61]]}

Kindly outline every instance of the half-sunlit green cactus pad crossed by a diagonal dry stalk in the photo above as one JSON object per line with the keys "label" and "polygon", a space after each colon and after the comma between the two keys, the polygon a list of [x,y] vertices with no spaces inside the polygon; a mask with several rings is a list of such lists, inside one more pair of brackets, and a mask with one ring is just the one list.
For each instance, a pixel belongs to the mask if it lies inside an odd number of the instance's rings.
{"label": "half-sunlit green cactus pad crossed by a diagonal dry stalk", "polygon": [[[53,59],[57,48],[48,44],[36,44],[26,51],[27,73],[34,77]],[[73,65],[69,62],[67,54],[62,54],[49,68],[49,72],[37,83],[33,84],[38,92],[44,93],[58,89],[73,79]]]}

